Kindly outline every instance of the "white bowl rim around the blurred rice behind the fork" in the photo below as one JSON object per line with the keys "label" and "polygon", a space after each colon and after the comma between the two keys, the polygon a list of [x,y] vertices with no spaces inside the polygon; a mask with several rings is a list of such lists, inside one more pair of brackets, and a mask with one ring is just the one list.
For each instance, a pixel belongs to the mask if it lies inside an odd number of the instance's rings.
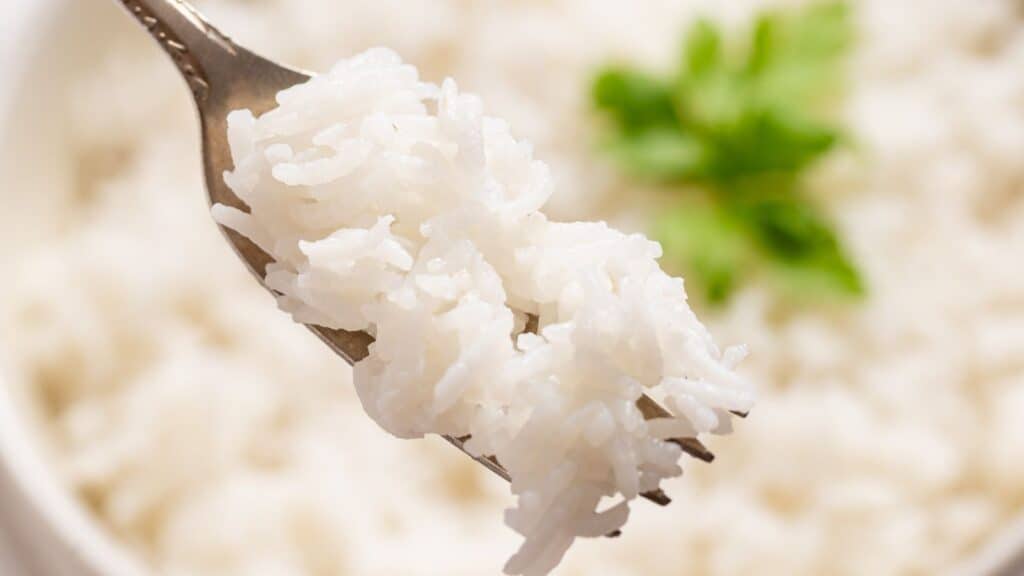
{"label": "white bowl rim around the blurred rice behind the fork", "polygon": [[[111,28],[134,26],[116,2],[5,0],[0,23],[0,167],[13,186],[0,191],[0,270],[51,231],[41,217],[71,190],[61,169],[70,161],[53,146],[63,124],[45,114],[65,93],[67,67],[87,63]],[[70,55],[69,55],[70,54]],[[31,87],[31,89],[30,89]],[[184,87],[182,87],[182,91]],[[31,137],[29,137],[31,135]],[[45,194],[33,191],[46,191]],[[8,198],[9,197],[9,198]],[[31,223],[31,225],[27,225]],[[44,423],[12,379],[0,341],[0,539],[13,542],[20,563],[0,573],[53,576],[143,576],[148,571],[100,528],[58,482],[48,461]],[[950,569],[956,576],[1024,575],[1024,519],[976,558]]]}

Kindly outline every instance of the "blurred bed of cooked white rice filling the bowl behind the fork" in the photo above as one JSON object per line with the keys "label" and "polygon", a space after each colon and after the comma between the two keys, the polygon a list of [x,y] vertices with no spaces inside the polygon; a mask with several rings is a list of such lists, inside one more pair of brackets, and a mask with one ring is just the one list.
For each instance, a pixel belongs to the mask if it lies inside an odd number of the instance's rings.
{"label": "blurred bed of cooked white rice filling the bowl behind the fork", "polygon": [[[507,487],[365,416],[349,368],[210,221],[164,55],[116,2],[53,4],[57,45],[8,48],[45,72],[5,87],[16,177],[0,193],[3,385],[53,477],[153,574],[499,573],[516,544]],[[741,30],[799,3],[198,4],[309,70],[388,45],[428,80],[457,78],[550,163],[551,215],[647,231],[678,192],[599,152],[594,74],[669,70],[697,16]],[[622,538],[578,543],[556,574],[945,574],[1024,511],[1024,6],[850,6],[835,114],[852,143],[807,194],[864,294],[755,278],[724,303],[698,297],[719,341],[750,345],[757,411],[666,487],[670,507],[635,506]]]}

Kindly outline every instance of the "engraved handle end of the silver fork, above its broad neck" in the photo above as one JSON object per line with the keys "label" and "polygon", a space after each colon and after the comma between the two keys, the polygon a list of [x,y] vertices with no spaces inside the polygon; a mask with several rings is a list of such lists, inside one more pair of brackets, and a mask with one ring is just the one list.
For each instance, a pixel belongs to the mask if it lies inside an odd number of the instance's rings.
{"label": "engraved handle end of the silver fork, above its broad neck", "polygon": [[153,36],[188,83],[197,101],[210,93],[207,71],[238,56],[239,47],[185,0],[120,0]]}

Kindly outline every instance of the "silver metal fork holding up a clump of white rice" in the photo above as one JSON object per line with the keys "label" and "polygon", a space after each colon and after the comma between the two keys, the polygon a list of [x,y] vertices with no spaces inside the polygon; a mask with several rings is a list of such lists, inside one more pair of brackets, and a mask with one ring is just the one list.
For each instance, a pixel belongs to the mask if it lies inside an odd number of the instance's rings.
{"label": "silver metal fork holding up a clump of white rice", "polygon": [[[305,82],[309,75],[239,46],[184,0],[119,1],[171,56],[191,89],[202,125],[203,168],[210,203],[248,211],[224,183],[223,173],[233,167],[227,145],[227,114],[239,109],[249,109],[256,115],[265,113],[276,106],[274,95],[278,92]],[[221,232],[249,271],[262,283],[266,264],[272,261],[270,256],[234,231],[221,227]],[[530,324],[536,327],[536,321]],[[307,327],[349,364],[369,356],[374,341],[366,332]],[[637,402],[637,406],[647,419],[669,416],[665,408],[646,396]],[[445,436],[444,439],[490,471],[509,480],[508,470],[498,460],[475,456],[465,449],[469,437]],[[694,438],[673,439],[671,442],[694,458],[706,462],[714,459],[714,455]],[[643,496],[660,505],[671,501],[662,490],[646,492]]]}

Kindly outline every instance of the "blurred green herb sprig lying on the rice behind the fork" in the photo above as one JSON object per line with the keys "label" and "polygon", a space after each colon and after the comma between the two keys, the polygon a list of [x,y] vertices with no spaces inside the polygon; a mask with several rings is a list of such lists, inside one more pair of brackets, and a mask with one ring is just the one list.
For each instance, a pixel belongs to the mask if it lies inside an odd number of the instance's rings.
{"label": "blurred green herb sprig lying on the rice behind the fork", "polygon": [[802,187],[805,169],[842,140],[824,107],[852,36],[842,2],[765,12],[738,45],[701,20],[674,74],[609,68],[594,81],[595,105],[614,127],[606,148],[620,164],[666,184],[691,184],[653,232],[709,300],[724,301],[764,260],[803,293],[863,292]]}

